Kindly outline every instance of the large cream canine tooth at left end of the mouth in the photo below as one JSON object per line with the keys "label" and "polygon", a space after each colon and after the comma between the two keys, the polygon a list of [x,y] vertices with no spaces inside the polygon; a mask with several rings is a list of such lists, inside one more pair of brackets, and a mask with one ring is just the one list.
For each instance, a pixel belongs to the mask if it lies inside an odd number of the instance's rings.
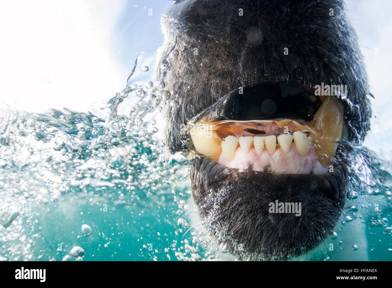
{"label": "large cream canine tooth at left end of the mouth", "polygon": [[189,135],[191,135],[196,151],[218,162],[219,156],[222,153],[221,141],[223,137],[216,131],[210,129],[211,125],[205,126],[189,127]]}

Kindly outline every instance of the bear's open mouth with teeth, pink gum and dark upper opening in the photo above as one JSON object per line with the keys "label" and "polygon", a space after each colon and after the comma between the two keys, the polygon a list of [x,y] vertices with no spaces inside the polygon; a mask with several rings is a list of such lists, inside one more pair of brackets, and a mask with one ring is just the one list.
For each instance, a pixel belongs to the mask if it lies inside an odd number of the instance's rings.
{"label": "bear's open mouth with teeth, pink gum and dark upper opening", "polygon": [[342,137],[343,104],[299,83],[244,87],[189,127],[194,149],[230,168],[321,174]]}

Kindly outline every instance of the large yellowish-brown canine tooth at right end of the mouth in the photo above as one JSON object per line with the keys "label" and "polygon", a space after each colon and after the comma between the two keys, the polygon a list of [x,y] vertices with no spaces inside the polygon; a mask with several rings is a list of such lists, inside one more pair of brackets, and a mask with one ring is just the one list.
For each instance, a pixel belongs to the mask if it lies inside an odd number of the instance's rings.
{"label": "large yellowish-brown canine tooth at right end of the mouth", "polygon": [[320,108],[310,122],[311,133],[319,161],[328,166],[335,157],[338,141],[343,132],[343,103],[336,96],[325,96]]}

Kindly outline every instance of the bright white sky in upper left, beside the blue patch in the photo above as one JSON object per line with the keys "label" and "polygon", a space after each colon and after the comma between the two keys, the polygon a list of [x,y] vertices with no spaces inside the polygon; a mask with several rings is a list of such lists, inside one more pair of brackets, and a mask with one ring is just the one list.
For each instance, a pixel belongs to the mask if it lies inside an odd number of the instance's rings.
{"label": "bright white sky in upper left, beside the blue patch", "polygon": [[[87,112],[125,87],[128,71],[112,52],[123,1],[3,1],[0,101],[43,112]],[[125,78],[125,79],[124,79]]]}

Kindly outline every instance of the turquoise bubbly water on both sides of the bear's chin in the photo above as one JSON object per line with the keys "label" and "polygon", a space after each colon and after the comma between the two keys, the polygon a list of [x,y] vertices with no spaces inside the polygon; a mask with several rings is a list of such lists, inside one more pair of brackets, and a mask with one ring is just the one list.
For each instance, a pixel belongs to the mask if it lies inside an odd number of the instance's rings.
{"label": "turquoise bubbly water on both sides of the bear's chin", "polygon": [[[155,116],[167,95],[162,82],[145,80],[148,70],[137,66],[95,114],[1,110],[0,259],[224,257],[189,223],[190,163],[160,141]],[[391,165],[365,147],[353,149],[350,199],[328,239],[337,248],[321,247],[311,260],[392,259]],[[346,237],[353,231],[360,237]],[[74,247],[84,255],[69,256]]]}

